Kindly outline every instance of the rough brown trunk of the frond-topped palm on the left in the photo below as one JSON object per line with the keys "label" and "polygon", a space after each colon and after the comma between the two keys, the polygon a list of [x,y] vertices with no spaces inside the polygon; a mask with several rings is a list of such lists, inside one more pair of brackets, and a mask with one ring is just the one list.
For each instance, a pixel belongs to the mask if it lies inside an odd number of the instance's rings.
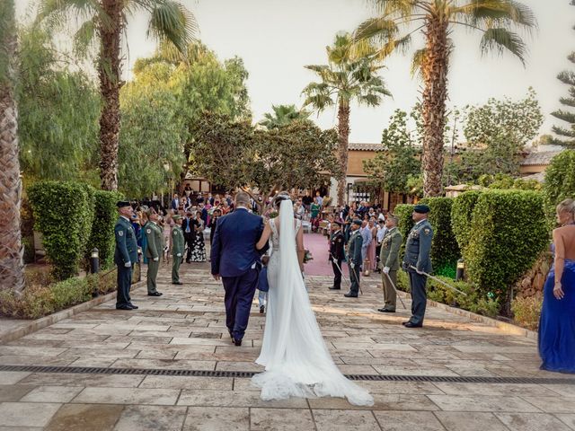
{"label": "rough brown trunk of the frond-topped palm on the left", "polygon": [[102,40],[98,76],[102,92],[100,116],[100,180],[102,189],[118,189],[118,143],[119,143],[119,89],[121,82],[120,40],[125,22],[122,18],[121,0],[103,0],[102,8],[112,22],[100,23]]}

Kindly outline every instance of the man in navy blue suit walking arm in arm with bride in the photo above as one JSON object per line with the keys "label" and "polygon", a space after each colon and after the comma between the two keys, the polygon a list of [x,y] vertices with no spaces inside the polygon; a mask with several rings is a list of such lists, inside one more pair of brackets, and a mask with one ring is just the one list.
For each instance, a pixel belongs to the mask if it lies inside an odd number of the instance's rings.
{"label": "man in navy blue suit walking arm in arm with bride", "polygon": [[249,207],[250,196],[238,193],[234,212],[217,220],[210,255],[212,275],[216,280],[221,277],[226,291],[226,326],[235,346],[242,345],[258,285],[260,255],[265,251],[255,248],[263,219],[250,213]]}

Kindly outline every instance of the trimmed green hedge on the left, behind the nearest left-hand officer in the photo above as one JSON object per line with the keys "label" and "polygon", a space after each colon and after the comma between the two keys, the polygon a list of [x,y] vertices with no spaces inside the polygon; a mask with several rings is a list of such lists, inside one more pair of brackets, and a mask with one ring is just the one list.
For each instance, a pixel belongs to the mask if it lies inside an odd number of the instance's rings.
{"label": "trimmed green hedge on the left, behind the nearest left-hand officer", "polygon": [[80,182],[40,181],[27,194],[54,279],[77,275],[94,247],[100,251],[102,268],[111,265],[117,192],[95,190]]}

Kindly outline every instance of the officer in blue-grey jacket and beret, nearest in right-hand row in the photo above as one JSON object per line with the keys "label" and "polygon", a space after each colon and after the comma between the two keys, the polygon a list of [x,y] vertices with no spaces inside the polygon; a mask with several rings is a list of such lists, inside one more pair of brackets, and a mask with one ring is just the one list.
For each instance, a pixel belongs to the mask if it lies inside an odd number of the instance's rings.
{"label": "officer in blue-grey jacket and beret, nearest in right-hand row", "polygon": [[[416,205],[413,208],[411,217],[415,225],[411,228],[405,244],[405,256],[403,256],[403,268],[410,276],[411,286],[411,318],[404,321],[406,328],[420,328],[423,325],[425,316],[425,306],[428,295],[425,290],[427,277],[423,274],[431,272],[431,240],[433,239],[433,229],[428,222],[429,207],[427,205]],[[411,268],[415,267],[415,269]]]}

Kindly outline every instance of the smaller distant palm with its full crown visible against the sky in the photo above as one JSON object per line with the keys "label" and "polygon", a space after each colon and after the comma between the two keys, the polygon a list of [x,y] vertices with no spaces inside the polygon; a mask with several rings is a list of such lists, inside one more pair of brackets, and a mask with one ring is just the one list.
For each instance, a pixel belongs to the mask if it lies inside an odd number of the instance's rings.
{"label": "smaller distant palm with its full crown visible against the sky", "polygon": [[350,102],[377,106],[381,103],[382,96],[391,96],[383,78],[377,75],[383,67],[381,62],[373,56],[368,44],[365,44],[367,49],[358,55],[358,50],[353,49],[352,41],[349,33],[337,35],[333,46],[326,47],[328,65],[305,66],[314,71],[321,81],[308,84],[303,91],[304,106],[311,106],[317,111],[325,110],[333,104],[338,107],[338,159],[341,167],[341,176],[338,179],[339,204],[345,201]]}

